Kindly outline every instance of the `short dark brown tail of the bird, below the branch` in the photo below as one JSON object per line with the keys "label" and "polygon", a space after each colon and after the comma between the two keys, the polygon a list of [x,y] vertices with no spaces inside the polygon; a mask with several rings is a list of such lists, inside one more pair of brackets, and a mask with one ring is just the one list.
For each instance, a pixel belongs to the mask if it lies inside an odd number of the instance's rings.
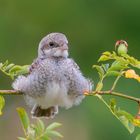
{"label": "short dark brown tail of the bird, below the branch", "polygon": [[54,118],[58,114],[58,106],[52,106],[47,109],[42,109],[39,105],[35,105],[31,111],[33,118],[44,117],[44,118]]}

